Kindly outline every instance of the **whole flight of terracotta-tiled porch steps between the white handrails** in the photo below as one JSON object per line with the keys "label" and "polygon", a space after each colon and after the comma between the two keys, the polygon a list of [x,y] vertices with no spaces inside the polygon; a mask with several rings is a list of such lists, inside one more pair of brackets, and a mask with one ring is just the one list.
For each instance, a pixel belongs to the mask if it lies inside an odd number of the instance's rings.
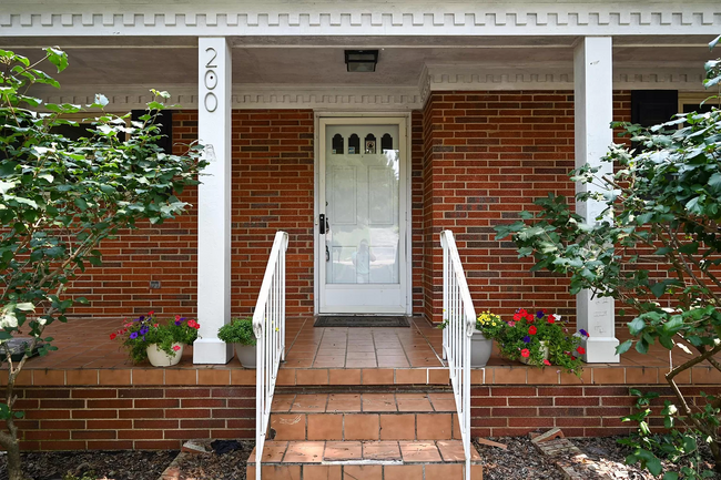
{"label": "whole flight of terracotta-tiled porch steps between the white handrails", "polygon": [[[451,480],[465,460],[448,391],[275,395],[263,479]],[[255,450],[247,478],[255,474]],[[471,479],[483,479],[473,450]]]}

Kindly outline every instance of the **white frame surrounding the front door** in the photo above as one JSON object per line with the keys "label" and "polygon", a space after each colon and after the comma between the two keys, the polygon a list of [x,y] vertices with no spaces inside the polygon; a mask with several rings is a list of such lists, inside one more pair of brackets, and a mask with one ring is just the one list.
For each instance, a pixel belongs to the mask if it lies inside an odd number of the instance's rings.
{"label": "white frame surrounding the front door", "polygon": [[[318,246],[318,215],[321,214],[321,119],[351,119],[358,120],[362,123],[364,119],[368,122],[369,119],[377,119],[378,121],[387,119],[403,119],[405,120],[405,136],[406,136],[406,155],[402,159],[405,162],[405,195],[399,196],[399,214],[405,215],[405,247],[406,247],[406,268],[405,273],[405,315],[413,315],[413,217],[412,217],[412,198],[413,198],[413,139],[412,139],[412,116],[410,112],[324,112],[316,111],[314,119],[314,187],[313,187],[313,308],[314,314],[321,313],[321,268],[325,268],[325,252],[321,252]],[[403,285],[403,282],[402,282]],[[367,314],[366,314],[367,315]],[[373,315],[373,314],[370,314]],[[378,314],[382,315],[382,314]]]}

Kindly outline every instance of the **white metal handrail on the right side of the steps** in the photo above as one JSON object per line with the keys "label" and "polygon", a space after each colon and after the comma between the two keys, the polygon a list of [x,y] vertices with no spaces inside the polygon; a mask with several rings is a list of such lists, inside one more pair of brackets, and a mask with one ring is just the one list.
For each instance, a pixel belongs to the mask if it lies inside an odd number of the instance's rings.
{"label": "white metal handrail on the right side of the steps", "polygon": [[444,357],[448,360],[456,399],[460,437],[466,457],[466,480],[470,480],[470,337],[476,329],[476,310],[466,283],[453,232],[440,233],[443,246]]}

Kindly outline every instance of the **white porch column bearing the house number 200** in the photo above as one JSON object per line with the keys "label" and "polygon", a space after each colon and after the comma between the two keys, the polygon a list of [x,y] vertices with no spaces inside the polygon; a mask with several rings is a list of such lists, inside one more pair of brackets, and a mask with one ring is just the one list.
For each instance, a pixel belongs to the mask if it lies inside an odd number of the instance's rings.
{"label": "white porch column bearing the house number 200", "polygon": [[231,48],[199,39],[197,136],[210,165],[197,187],[197,320],[193,364],[227,364],[232,345],[217,338],[231,320]]}

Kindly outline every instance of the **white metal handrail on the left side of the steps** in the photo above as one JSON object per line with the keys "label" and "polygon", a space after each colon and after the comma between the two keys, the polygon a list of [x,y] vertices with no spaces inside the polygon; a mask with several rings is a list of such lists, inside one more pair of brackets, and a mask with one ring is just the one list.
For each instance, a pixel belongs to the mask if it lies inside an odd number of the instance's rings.
{"label": "white metal handrail on the left side of the steps", "polygon": [[288,234],[277,232],[261,293],[253,314],[253,331],[257,343],[255,380],[255,478],[261,480],[261,459],[271,418],[275,380],[281,361],[285,360],[285,251]]}

